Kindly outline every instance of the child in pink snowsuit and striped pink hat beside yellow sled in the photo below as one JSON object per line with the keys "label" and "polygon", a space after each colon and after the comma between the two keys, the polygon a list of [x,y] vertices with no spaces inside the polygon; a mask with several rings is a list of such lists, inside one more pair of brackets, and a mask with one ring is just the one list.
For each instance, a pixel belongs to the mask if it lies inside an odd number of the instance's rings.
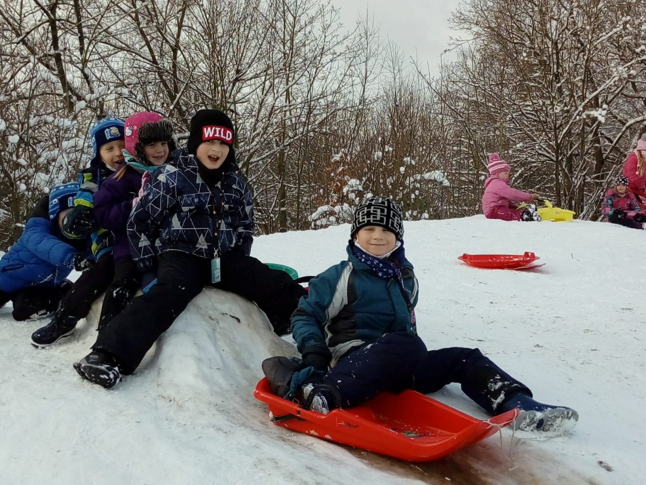
{"label": "child in pink snowsuit and striped pink hat beside yellow sled", "polygon": [[535,204],[528,204],[519,209],[519,202],[530,202],[538,199],[537,193],[523,192],[509,186],[511,168],[501,160],[497,153],[489,156],[487,169],[490,173],[485,182],[483,194],[483,212],[487,219],[503,221],[540,221],[541,216]]}

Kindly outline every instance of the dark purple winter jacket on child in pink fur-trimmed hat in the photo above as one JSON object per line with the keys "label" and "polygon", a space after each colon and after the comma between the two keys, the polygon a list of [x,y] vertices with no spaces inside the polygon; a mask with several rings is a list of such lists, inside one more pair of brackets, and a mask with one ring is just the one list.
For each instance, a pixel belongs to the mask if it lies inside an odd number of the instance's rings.
{"label": "dark purple winter jacket on child in pink fur-trimmed hat", "polygon": [[106,178],[94,194],[94,219],[99,226],[114,234],[115,259],[130,255],[126,226],[132,211],[132,199],[137,197],[141,188],[141,173],[136,169],[127,167],[120,179],[115,177],[117,173]]}

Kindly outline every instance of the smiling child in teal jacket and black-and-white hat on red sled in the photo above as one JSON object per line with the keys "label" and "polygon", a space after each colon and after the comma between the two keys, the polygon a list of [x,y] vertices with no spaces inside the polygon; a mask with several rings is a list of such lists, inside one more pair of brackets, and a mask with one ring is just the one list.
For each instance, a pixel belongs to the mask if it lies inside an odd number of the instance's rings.
{"label": "smiling child in teal jacket and black-and-white hat on red sled", "polygon": [[520,408],[517,429],[571,429],[576,411],[536,402],[528,387],[479,349],[426,349],[415,327],[417,279],[404,255],[403,235],[402,213],[393,200],[371,197],[359,205],[348,261],[309,281],[309,294],[292,315],[302,361],[263,362],[272,391],[327,414],[381,391],[427,394],[459,382],[490,415]]}

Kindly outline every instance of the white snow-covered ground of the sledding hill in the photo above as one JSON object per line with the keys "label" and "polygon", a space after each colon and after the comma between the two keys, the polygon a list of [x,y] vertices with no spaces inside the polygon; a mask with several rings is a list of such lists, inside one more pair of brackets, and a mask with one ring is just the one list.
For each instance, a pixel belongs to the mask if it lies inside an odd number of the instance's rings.
{"label": "white snow-covered ground of the sledding hill", "polygon": [[[0,483],[643,483],[646,233],[482,216],[405,228],[427,345],[479,347],[537,399],[577,409],[572,435],[519,441],[504,430],[420,465],[291,433],[269,422],[253,388],[260,362],[293,347],[273,336],[255,306],[209,289],[111,391],[72,369],[96,336],[96,306],[74,338],[44,350],[28,343],[44,322],[15,322],[1,309]],[[316,274],[346,258],[348,232],[346,225],[258,237],[253,255]],[[547,264],[478,270],[456,259],[525,251]],[[484,416],[455,385],[434,397]]]}

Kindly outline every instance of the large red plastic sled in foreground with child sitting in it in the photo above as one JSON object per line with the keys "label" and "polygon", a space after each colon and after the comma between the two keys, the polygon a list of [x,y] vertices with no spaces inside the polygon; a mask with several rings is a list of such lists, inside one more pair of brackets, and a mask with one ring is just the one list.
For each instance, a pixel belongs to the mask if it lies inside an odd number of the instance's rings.
{"label": "large red plastic sled in foreground with child sitting in it", "polygon": [[483,421],[415,391],[380,393],[323,415],[272,394],[266,378],[254,396],[269,405],[278,426],[412,462],[435,460],[490,437],[518,415],[512,409]]}

